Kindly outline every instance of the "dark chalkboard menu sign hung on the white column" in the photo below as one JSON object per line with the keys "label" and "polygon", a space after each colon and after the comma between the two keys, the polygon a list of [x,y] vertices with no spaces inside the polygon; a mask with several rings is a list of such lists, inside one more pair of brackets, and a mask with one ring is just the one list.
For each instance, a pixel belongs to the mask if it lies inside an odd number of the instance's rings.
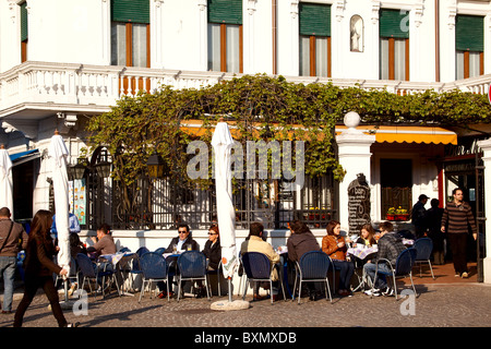
{"label": "dark chalkboard menu sign hung on the white column", "polygon": [[348,224],[349,234],[360,234],[361,227],[371,222],[370,218],[370,186],[363,173],[348,186]]}

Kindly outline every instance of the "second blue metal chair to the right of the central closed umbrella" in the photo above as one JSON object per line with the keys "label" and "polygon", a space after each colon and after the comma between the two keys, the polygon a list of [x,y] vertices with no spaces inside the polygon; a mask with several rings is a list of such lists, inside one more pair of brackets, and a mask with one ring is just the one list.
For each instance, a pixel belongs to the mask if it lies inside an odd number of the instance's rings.
{"label": "second blue metal chair to the right of the central closed umbrella", "polygon": [[295,290],[297,289],[297,279],[300,278],[298,287],[298,303],[300,304],[300,294],[302,291],[302,282],[314,282],[324,281],[325,282],[325,299],[327,300],[327,293],[330,294],[331,303],[333,298],[331,297],[330,281],[327,277],[327,272],[332,266],[330,256],[322,251],[310,251],[304,253],[300,261],[296,264],[297,275],[295,277],[294,286],[294,300]]}

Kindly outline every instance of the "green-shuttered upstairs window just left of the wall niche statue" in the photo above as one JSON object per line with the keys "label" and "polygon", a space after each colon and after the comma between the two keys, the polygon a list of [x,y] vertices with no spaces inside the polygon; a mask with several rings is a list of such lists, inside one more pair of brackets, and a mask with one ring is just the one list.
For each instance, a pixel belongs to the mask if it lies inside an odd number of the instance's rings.
{"label": "green-shuttered upstairs window just left of the wall niche statue", "polygon": [[301,76],[331,76],[331,5],[299,4]]}

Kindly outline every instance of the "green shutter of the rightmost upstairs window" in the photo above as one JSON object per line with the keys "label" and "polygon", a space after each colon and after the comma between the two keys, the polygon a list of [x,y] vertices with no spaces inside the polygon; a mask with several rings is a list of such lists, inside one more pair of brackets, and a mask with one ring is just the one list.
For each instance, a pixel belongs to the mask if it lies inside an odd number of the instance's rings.
{"label": "green shutter of the rightmost upstairs window", "polygon": [[484,17],[457,14],[455,49],[457,51],[484,51]]}

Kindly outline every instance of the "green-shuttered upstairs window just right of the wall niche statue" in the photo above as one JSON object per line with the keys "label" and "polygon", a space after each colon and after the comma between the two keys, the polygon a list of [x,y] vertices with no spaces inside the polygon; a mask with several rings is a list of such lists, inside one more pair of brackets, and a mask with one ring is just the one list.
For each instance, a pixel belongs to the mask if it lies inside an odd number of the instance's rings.
{"label": "green-shuttered upstairs window just right of the wall niche statue", "polygon": [[409,80],[409,12],[380,10],[380,79]]}

